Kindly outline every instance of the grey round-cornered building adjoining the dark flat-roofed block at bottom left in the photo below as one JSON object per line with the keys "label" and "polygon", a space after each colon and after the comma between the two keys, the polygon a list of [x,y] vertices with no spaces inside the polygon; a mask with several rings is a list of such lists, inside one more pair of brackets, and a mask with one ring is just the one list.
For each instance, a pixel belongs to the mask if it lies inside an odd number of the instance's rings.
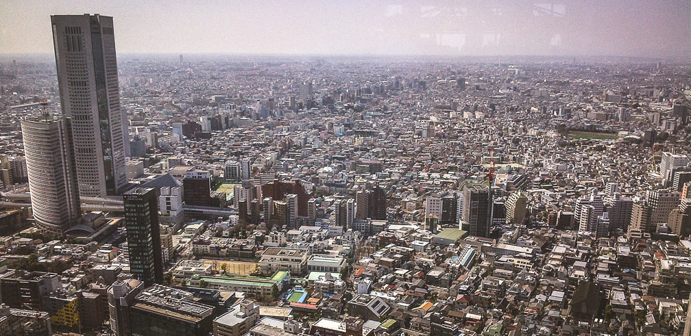
{"label": "grey round-cornered building adjoining the dark flat-roofed block at bottom left", "polygon": [[111,315],[111,330],[116,336],[132,335],[129,308],[142,290],[144,284],[137,279],[118,280],[108,288],[108,313]]}

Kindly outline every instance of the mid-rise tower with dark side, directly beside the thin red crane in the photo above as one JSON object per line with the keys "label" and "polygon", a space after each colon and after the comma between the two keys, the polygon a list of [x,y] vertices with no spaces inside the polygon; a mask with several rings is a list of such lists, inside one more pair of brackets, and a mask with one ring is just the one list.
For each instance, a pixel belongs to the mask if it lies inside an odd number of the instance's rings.
{"label": "mid-rise tower with dark side, directly beside the thin red crane", "polygon": [[489,237],[492,196],[488,186],[475,184],[463,190],[461,230],[468,235]]}

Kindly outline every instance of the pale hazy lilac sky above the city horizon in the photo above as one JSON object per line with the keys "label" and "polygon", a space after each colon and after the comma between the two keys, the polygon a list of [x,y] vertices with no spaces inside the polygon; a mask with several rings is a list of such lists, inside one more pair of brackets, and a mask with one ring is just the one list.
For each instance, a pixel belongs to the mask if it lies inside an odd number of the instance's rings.
{"label": "pale hazy lilac sky above the city horizon", "polygon": [[0,53],[51,53],[50,15],[84,13],[118,53],[691,55],[688,0],[0,0]]}

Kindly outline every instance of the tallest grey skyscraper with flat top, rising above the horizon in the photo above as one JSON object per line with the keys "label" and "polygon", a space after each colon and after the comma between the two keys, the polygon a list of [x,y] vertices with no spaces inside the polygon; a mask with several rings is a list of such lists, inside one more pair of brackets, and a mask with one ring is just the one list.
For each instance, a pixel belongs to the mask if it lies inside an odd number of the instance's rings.
{"label": "tallest grey skyscraper with flat top, rising above the horizon", "polygon": [[113,18],[53,15],[63,115],[72,118],[79,195],[120,195],[127,185],[127,115],[120,109]]}

